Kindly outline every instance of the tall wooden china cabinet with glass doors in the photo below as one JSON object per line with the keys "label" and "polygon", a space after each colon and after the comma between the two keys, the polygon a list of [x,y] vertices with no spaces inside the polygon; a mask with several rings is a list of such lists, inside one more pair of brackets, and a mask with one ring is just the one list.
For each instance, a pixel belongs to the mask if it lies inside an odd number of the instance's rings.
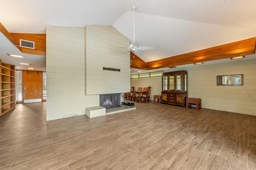
{"label": "tall wooden china cabinet with glass doors", "polygon": [[188,98],[187,71],[164,73],[162,76],[162,103],[185,107]]}

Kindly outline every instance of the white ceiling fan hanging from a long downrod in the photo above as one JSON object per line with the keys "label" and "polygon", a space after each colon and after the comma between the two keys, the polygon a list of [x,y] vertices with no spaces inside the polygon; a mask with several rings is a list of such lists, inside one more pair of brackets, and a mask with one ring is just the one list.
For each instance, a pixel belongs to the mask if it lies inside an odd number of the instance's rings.
{"label": "white ceiling fan hanging from a long downrod", "polygon": [[135,11],[134,10],[136,10],[136,6],[133,6],[132,7],[133,8],[133,43],[132,44],[130,44],[130,46],[129,47],[124,47],[124,46],[116,46],[116,47],[122,47],[122,48],[127,48],[128,50],[126,50],[126,51],[124,51],[122,54],[124,54],[124,53],[128,53],[129,51],[132,51],[132,52],[134,52],[134,53],[136,53],[136,54],[138,54],[138,55],[140,55],[141,54],[141,51],[140,50],[150,50],[150,49],[154,49],[154,47],[150,47],[150,46],[141,46],[140,47],[140,41],[139,40],[136,40],[135,41],[135,39],[134,39],[134,32],[135,32],[135,22],[134,22],[134,20],[135,20]]}

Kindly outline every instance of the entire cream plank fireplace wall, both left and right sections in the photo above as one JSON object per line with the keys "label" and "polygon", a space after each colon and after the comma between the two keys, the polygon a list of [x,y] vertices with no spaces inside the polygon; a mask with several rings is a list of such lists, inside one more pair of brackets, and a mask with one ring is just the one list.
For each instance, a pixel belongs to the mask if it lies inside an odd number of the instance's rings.
{"label": "entire cream plank fireplace wall, both left and right sections", "polygon": [[130,55],[115,46],[129,44],[112,26],[46,27],[46,121],[85,114],[99,94],[129,91]]}

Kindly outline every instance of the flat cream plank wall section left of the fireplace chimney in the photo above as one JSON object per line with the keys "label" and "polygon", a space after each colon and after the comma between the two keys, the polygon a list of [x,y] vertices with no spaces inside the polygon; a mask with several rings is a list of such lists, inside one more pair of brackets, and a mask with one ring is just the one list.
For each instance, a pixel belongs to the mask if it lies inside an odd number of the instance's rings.
{"label": "flat cream plank wall section left of the fireplace chimney", "polygon": [[84,28],[46,27],[46,120],[84,112]]}

